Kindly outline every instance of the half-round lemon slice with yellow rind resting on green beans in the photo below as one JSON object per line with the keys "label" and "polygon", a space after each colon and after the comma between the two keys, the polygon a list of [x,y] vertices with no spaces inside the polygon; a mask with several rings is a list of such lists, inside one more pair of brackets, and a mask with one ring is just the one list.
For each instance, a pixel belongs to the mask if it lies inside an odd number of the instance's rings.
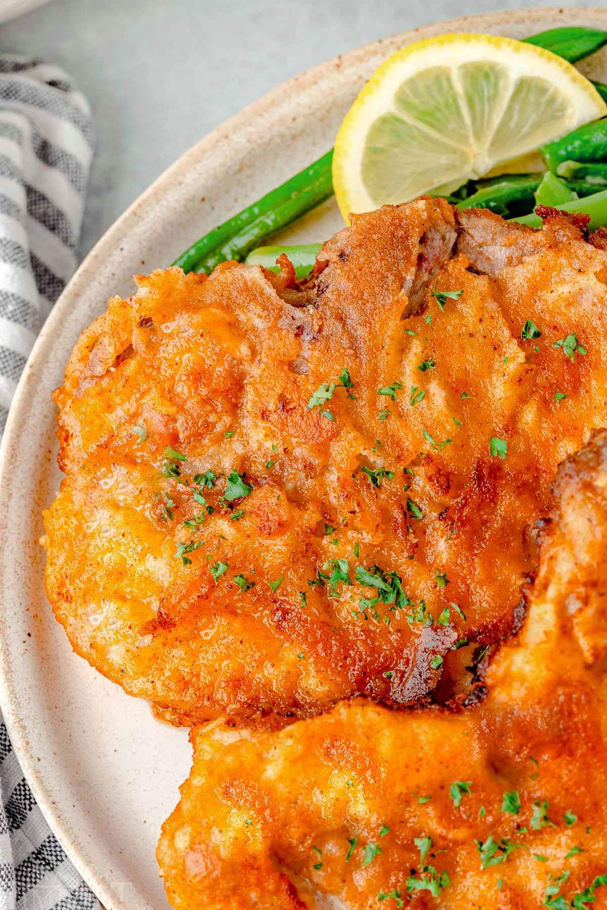
{"label": "half-round lemon slice with yellow rind resting on green beans", "polygon": [[440,35],[379,66],[339,128],[342,215],[460,186],[607,112],[574,66],[493,35]]}

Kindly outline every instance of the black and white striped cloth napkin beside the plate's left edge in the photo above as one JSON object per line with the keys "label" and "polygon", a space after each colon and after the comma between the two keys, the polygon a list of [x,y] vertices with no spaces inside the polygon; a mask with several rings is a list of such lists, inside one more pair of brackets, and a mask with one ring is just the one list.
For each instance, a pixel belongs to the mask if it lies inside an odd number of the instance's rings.
{"label": "black and white striped cloth napkin beside the plate's left edge", "polygon": [[[93,155],[57,66],[0,55],[0,433],[36,334],[76,268]],[[35,804],[0,716],[0,910],[100,910]]]}

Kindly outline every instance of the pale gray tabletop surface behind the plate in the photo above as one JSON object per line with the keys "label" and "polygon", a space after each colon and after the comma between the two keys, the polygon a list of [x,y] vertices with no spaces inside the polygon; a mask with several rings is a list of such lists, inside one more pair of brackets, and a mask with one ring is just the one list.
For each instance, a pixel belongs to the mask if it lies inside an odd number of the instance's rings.
{"label": "pale gray tabletop surface behind the plate", "polygon": [[52,0],[1,25],[0,49],[65,66],[93,107],[84,254],[197,139],[290,76],[417,25],[554,2]]}

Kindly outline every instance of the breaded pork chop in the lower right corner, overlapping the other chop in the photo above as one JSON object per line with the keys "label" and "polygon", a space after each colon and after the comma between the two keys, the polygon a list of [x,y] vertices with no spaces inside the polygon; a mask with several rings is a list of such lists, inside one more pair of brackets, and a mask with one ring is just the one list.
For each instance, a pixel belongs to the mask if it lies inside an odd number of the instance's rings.
{"label": "breaded pork chop in the lower right corner, overlapping the other chop", "polygon": [[567,460],[521,634],[475,707],[192,731],[176,910],[607,906],[607,433]]}

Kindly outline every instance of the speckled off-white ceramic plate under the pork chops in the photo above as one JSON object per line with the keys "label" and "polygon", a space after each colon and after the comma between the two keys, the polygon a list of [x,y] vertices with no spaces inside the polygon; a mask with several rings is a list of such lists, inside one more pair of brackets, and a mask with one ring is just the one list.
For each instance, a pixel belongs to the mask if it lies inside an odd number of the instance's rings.
{"label": "speckled off-white ceramic plate under the pork chops", "polygon": [[[71,651],[43,584],[40,511],[60,480],[50,394],[69,351],[131,275],[165,266],[195,238],[333,144],[366,78],[392,51],[449,31],[523,37],[556,25],[607,28],[607,9],[480,15],[397,35],[292,79],[180,158],[107,231],[56,304],[25,368],[0,454],[0,698],[35,797],[108,910],[167,907],[157,875],[160,824],[187,776],[187,732],[158,723]],[[607,54],[582,65],[607,81]],[[341,226],[330,202],[284,238]]]}

